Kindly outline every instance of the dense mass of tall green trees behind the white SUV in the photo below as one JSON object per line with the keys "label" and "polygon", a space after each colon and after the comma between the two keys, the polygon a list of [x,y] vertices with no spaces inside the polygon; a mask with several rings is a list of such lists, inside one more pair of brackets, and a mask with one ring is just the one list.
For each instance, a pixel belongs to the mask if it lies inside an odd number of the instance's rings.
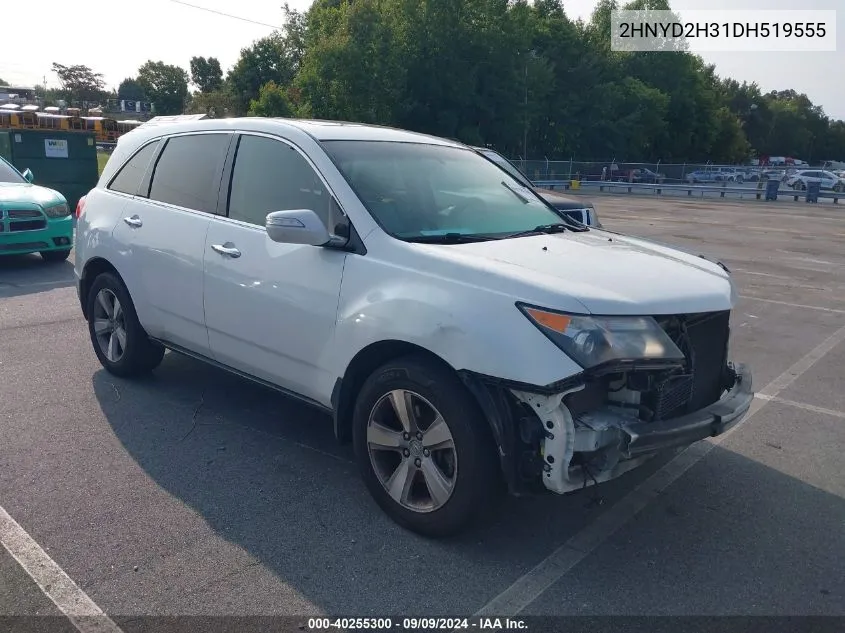
{"label": "dense mass of tall green trees behind the white SUV", "polygon": [[[586,23],[569,20],[563,0],[285,5],[284,28],[244,48],[223,86],[195,95],[190,111],[394,125],[511,157],[845,157],[845,123],[805,95],[722,79],[683,42],[611,50],[611,12],[623,2],[600,0]],[[667,0],[624,8],[670,9]],[[191,71],[202,90],[202,62]]]}

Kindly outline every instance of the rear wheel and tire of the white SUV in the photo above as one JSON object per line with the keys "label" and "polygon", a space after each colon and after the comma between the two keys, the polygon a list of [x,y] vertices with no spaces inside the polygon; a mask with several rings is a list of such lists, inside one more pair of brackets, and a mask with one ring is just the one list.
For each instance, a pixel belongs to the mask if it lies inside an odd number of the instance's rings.
{"label": "rear wheel and tire of the white SUV", "polygon": [[138,321],[129,291],[113,273],[102,273],[88,291],[88,332],[100,364],[115,376],[149,373],[164,358]]}

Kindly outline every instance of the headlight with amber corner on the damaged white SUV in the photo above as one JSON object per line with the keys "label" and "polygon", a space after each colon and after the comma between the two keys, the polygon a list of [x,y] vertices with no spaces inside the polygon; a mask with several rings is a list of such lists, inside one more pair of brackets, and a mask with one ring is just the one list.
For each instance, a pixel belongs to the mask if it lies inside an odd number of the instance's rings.
{"label": "headlight with amber corner on the damaged white SUV", "polygon": [[652,317],[584,316],[517,304],[537,328],[584,369],[611,361],[683,361]]}

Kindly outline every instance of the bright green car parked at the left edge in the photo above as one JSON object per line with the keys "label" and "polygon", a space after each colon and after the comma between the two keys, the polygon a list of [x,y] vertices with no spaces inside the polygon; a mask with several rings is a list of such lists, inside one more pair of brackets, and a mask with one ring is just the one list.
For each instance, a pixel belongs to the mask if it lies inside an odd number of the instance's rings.
{"label": "bright green car parked at the left edge", "polygon": [[62,194],[33,185],[33,178],[0,158],[0,255],[41,253],[45,261],[64,261],[73,247],[70,208]]}

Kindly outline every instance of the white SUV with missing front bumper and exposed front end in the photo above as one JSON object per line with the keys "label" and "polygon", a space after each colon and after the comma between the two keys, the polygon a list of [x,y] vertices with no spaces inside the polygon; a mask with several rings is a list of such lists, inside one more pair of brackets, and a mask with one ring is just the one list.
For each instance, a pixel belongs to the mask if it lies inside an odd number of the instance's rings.
{"label": "white SUV with missing front bumper and exposed front end", "polygon": [[80,204],[75,272],[118,376],[165,348],[330,413],[398,523],[462,528],[722,433],[736,294],[587,228],[459,143],[284,119],[143,125]]}

